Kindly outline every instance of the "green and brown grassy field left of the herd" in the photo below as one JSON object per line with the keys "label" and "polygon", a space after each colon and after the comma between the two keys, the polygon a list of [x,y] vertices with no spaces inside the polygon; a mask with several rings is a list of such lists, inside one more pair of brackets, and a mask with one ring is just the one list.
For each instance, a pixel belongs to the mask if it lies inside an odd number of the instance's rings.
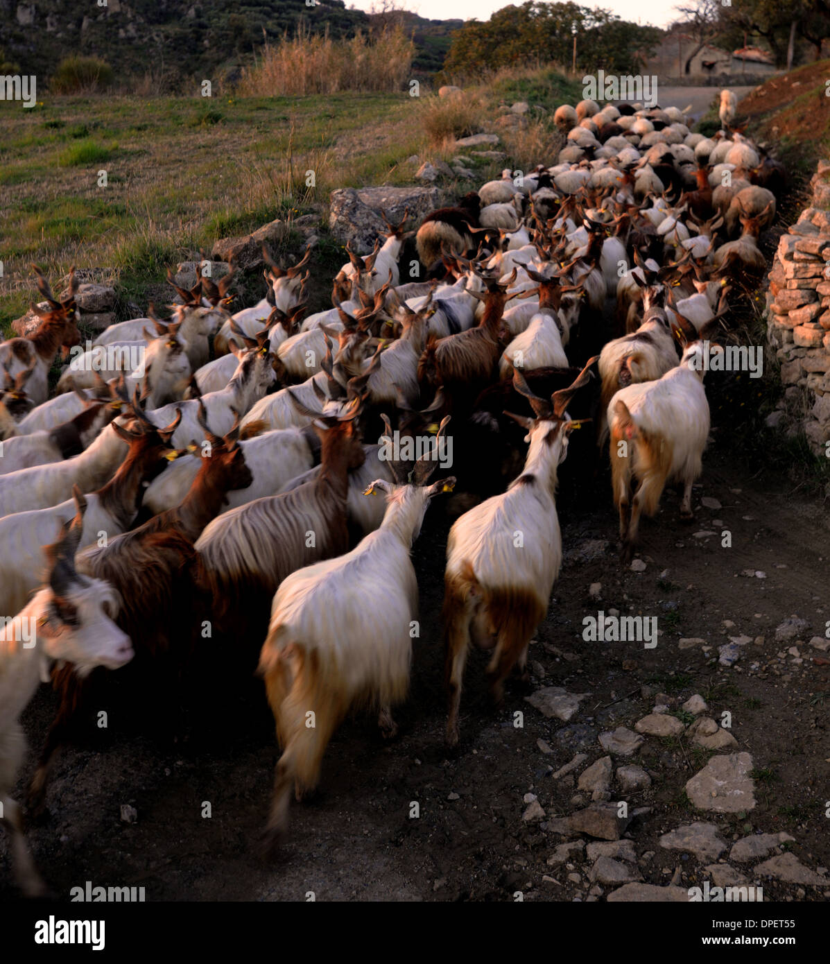
{"label": "green and brown grassy field left of the herd", "polygon": [[[502,99],[555,106],[573,98],[572,87],[551,71],[496,78],[470,92],[465,132],[486,129]],[[315,257],[339,265],[343,253],[326,228],[330,192],[412,184],[417,163],[409,157],[454,156],[451,144],[433,143],[428,135],[432,113],[445,105],[435,96],[403,92],[47,96],[31,110],[0,103],[0,326],[22,314],[32,298],[32,261],[52,274],[72,264],[109,269],[126,312],[128,301],[144,308],[147,298],[157,297],[154,286],[168,264],[210,248],[217,238],[312,213],[321,236]],[[535,161],[545,150],[546,123],[534,121],[514,137],[504,133],[506,162],[468,155],[474,183],[442,181],[447,195],[464,193],[504,163],[522,167],[527,151]],[[305,183],[308,170],[315,174],[312,188]],[[99,171],[107,173],[106,187],[98,186]],[[287,245],[296,250],[298,236],[289,235]]]}

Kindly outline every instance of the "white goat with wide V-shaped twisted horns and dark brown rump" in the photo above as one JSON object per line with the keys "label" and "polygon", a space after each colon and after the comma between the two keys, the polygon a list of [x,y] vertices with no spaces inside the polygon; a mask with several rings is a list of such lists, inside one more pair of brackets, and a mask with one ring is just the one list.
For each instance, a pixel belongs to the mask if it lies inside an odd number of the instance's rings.
{"label": "white goat with wide V-shaped twisted horns and dark brown rump", "polygon": [[534,395],[522,374],[514,372],[514,385],[536,415],[511,415],[527,429],[530,447],[522,474],[507,492],[470,509],[449,530],[442,617],[450,746],[459,738],[458,710],[470,642],[494,650],[487,672],[495,701],[500,702],[504,680],[517,662],[524,669],[528,644],[547,611],[562,564],[556,471],[574,428],[565,409],[591,378],[589,367],[595,361],[588,362],[570,388],[555,391],[550,402]]}

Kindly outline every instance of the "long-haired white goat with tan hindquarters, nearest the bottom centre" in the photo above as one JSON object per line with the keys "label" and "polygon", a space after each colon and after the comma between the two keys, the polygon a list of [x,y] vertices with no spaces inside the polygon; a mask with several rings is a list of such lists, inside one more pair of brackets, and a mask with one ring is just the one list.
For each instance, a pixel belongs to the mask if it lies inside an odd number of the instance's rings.
{"label": "long-haired white goat with tan hindquarters, nearest the bottom centre", "polygon": [[265,832],[272,852],[287,824],[292,784],[298,796],[317,785],[326,746],[348,710],[370,702],[380,710],[383,735],[397,732],[390,708],[409,688],[417,618],[410,553],[430,499],[455,482],[428,486],[436,463],[427,455],[411,484],[377,479],[366,489],[367,495],[387,494],[376,532],[339,558],[287,576],[274,596],[259,656],[282,748]]}

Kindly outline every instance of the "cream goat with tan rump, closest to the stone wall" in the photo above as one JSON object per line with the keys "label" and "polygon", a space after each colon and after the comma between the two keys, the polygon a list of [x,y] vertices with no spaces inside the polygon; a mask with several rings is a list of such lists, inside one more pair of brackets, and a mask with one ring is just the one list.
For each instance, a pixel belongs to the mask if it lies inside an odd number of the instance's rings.
{"label": "cream goat with tan rump, closest to the stone wall", "polygon": [[[670,479],[683,482],[681,519],[693,518],[691,488],[701,473],[710,427],[703,387],[708,362],[704,352],[701,341],[686,344],[681,363],[662,378],[620,388],[608,403],[611,484],[620,514],[624,562],[631,558],[641,513],[656,513]],[[632,492],[632,476],[637,478],[636,492]]]}

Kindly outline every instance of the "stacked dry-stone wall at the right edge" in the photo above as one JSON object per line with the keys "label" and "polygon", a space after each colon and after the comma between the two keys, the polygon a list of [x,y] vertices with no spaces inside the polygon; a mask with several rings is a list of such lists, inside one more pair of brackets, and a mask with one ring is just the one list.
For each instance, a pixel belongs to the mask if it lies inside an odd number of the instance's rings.
{"label": "stacked dry-stone wall at the right edge", "polygon": [[[830,163],[820,161],[811,181],[812,205],[778,245],[767,294],[767,338],[781,362],[784,410],[800,413],[811,448],[830,440]],[[805,416],[806,413],[806,416]],[[795,426],[793,429],[797,430]]]}

